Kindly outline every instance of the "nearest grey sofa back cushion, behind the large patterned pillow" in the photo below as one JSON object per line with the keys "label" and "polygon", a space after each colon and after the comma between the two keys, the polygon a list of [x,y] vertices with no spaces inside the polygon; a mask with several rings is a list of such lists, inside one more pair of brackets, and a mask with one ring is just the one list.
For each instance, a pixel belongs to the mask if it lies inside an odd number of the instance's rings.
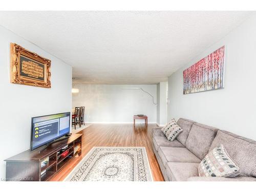
{"label": "nearest grey sofa back cushion, behind the large patterned pillow", "polygon": [[240,167],[239,176],[256,177],[256,141],[219,130],[210,150],[220,144]]}

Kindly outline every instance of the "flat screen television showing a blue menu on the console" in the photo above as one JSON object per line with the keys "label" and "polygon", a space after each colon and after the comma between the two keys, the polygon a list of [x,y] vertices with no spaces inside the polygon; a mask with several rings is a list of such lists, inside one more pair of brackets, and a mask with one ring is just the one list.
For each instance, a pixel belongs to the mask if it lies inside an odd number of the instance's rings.
{"label": "flat screen television showing a blue menu on the console", "polygon": [[70,112],[31,118],[30,150],[70,133]]}

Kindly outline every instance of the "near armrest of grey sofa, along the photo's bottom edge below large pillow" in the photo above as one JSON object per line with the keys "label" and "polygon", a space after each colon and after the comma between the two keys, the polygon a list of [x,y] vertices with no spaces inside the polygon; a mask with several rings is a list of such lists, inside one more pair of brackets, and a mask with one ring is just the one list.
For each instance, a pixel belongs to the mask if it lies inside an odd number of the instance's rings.
{"label": "near armrest of grey sofa, along the photo's bottom edge below large pillow", "polygon": [[256,177],[189,177],[187,181],[256,181]]}

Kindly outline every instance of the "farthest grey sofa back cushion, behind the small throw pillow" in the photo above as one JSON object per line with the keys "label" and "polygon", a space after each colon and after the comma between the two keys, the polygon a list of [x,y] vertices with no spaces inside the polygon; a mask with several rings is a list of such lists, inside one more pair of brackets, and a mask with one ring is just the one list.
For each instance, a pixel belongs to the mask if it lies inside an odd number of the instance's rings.
{"label": "farthest grey sofa back cushion, behind the small throw pillow", "polygon": [[181,144],[185,145],[188,134],[191,130],[191,126],[195,123],[195,121],[191,121],[188,119],[179,118],[177,124],[183,129],[183,131],[177,136],[177,140],[181,142]]}

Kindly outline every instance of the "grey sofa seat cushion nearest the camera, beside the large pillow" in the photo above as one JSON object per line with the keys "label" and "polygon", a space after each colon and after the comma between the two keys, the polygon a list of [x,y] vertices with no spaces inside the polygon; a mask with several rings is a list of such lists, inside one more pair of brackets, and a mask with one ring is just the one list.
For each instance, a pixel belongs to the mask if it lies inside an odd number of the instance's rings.
{"label": "grey sofa seat cushion nearest the camera, beside the large pillow", "polygon": [[166,174],[170,181],[186,181],[189,177],[198,176],[199,163],[168,162]]}

